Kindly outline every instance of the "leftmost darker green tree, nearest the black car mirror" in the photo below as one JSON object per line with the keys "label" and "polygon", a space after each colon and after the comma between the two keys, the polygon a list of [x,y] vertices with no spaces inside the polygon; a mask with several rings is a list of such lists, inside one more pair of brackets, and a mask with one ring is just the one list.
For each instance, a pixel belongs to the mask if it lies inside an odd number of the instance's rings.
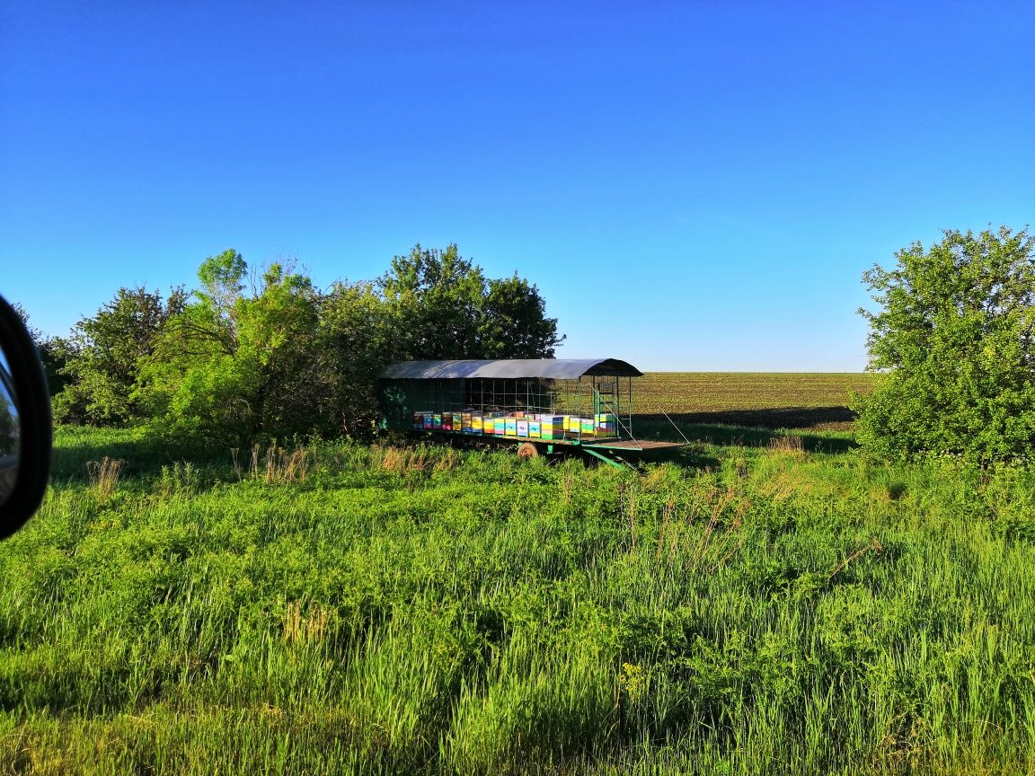
{"label": "leftmost darker green tree, nearest the black car mirror", "polygon": [[184,300],[182,289],[165,299],[145,288],[119,289],[92,318],[76,324],[67,339],[45,344],[45,363],[56,371],[48,377],[66,381],[54,397],[55,419],[118,425],[142,417],[135,396],[141,362],[154,352],[158,333]]}

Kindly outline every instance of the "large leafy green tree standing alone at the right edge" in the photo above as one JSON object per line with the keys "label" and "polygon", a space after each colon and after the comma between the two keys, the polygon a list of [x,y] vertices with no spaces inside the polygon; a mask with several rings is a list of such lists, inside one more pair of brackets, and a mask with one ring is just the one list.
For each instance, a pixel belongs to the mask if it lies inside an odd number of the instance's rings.
{"label": "large leafy green tree standing alone at the right edge", "polygon": [[946,231],[899,250],[864,282],[879,304],[857,437],[882,457],[951,453],[989,461],[1035,443],[1035,239],[1027,230]]}

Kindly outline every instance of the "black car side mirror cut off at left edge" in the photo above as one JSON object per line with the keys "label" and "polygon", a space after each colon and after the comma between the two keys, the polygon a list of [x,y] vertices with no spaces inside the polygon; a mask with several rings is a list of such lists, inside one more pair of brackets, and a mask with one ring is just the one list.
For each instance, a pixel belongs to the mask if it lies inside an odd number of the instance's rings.
{"label": "black car side mirror cut off at left edge", "polygon": [[39,508],[53,444],[43,365],[25,322],[0,297],[0,539]]}

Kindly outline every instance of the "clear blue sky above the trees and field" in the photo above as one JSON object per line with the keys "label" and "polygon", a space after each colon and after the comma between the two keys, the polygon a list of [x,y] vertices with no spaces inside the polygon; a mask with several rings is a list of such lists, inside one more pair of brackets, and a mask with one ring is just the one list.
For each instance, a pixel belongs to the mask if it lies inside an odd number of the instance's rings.
{"label": "clear blue sky above the trees and field", "polygon": [[854,371],[875,262],[1035,206],[1035,3],[0,5],[0,293],[65,333],[235,247],[416,242],[560,356]]}

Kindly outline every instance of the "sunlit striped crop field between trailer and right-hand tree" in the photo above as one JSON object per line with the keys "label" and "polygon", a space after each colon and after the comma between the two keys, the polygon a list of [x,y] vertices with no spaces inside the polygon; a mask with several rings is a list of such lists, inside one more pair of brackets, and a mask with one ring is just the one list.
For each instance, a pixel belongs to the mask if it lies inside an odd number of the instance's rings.
{"label": "sunlit striped crop field between trailer and right-hand tree", "polygon": [[866,372],[653,371],[632,381],[633,411],[691,423],[778,428],[847,429],[853,392],[865,393]]}

